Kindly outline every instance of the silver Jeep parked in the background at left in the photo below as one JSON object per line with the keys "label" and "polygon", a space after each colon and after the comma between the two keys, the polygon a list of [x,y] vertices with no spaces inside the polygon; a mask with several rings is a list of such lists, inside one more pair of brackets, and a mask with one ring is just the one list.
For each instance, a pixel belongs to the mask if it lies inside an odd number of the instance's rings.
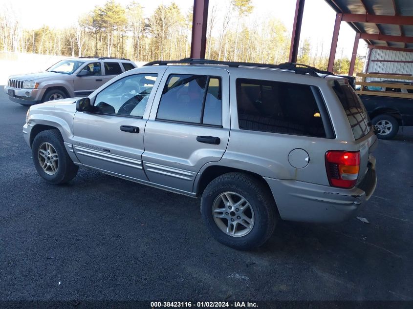
{"label": "silver Jeep parked in the background at left", "polygon": [[89,95],[113,77],[136,67],[129,59],[65,59],[46,71],[9,77],[4,92],[22,105]]}

